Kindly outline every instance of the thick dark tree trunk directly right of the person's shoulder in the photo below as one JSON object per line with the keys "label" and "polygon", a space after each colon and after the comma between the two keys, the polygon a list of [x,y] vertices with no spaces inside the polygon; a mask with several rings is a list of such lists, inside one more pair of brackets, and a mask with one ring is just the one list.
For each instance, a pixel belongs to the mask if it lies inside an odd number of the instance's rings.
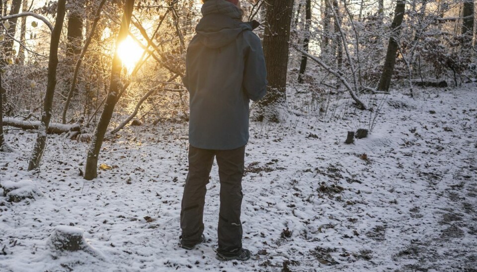
{"label": "thick dark tree trunk directly right of the person's shoulder", "polygon": [[263,53],[267,69],[267,94],[254,105],[252,120],[278,123],[286,106],[287,67],[294,0],[269,1],[266,11]]}

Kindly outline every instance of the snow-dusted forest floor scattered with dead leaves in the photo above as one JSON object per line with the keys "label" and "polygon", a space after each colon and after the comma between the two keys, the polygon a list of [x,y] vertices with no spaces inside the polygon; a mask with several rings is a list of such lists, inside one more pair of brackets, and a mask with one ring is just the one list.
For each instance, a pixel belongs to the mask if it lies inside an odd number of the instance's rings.
{"label": "snow-dusted forest floor scattered with dead leaves", "polygon": [[[216,165],[208,239],[178,246],[187,124],[120,132],[99,159],[113,169],[93,181],[79,176],[86,143],[50,136],[32,174],[35,134],[10,128],[16,151],[0,154],[0,184],[26,181],[34,199],[10,203],[0,189],[0,271],[477,271],[476,84],[392,94],[371,135],[354,144],[343,143],[346,118],[354,117],[251,124],[246,262],[215,259]],[[82,229],[91,248],[53,252],[47,240],[58,225]]]}

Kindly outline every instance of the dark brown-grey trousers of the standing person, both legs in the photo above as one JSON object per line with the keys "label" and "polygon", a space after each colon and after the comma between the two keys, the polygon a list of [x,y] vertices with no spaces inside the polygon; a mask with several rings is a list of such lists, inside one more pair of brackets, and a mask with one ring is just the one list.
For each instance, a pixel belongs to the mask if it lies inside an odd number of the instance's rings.
{"label": "dark brown-grey trousers of the standing person, both legs", "polygon": [[189,173],[185,180],[180,212],[182,241],[195,243],[204,232],[206,185],[217,158],[220,179],[219,252],[229,253],[242,247],[242,176],[245,146],[232,150],[210,150],[189,146]]}

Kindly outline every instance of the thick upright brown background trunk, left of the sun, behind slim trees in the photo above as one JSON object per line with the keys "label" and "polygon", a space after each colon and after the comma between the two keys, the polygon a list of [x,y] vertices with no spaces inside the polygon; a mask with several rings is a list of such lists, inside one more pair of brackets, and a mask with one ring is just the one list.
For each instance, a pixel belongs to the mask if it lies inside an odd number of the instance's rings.
{"label": "thick upright brown background trunk, left of the sun, behind slim trees", "polygon": [[66,45],[67,56],[75,56],[81,53],[84,13],[84,6],[82,2],[82,0],[74,0],[69,1],[68,3],[68,43]]}

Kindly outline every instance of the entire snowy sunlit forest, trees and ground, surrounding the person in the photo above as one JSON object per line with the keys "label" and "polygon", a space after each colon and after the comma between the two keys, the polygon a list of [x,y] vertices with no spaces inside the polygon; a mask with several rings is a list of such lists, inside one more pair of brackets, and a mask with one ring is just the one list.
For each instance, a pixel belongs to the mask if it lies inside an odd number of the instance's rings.
{"label": "entire snowy sunlit forest, trees and ground, surrounding the person", "polygon": [[1,271],[476,271],[474,1],[242,0],[245,263],[214,258],[216,165],[177,245],[200,7],[1,0]]}

